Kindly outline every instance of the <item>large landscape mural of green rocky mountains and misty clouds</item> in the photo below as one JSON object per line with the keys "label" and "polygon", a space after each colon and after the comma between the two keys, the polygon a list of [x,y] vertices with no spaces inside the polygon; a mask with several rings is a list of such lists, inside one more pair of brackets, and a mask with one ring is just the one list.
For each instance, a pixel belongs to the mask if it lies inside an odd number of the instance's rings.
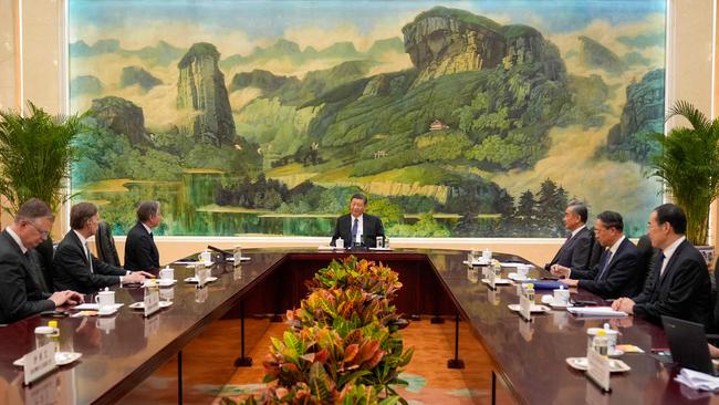
{"label": "large landscape mural of green rocky mountains and misty clouds", "polygon": [[70,1],[75,200],[115,235],[633,237],[660,202],[665,1]]}

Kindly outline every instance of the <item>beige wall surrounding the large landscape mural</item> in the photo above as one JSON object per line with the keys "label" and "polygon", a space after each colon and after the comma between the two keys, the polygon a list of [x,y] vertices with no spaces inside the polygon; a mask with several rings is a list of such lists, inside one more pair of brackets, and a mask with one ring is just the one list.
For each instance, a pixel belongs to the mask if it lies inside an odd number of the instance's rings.
{"label": "beige wall surrounding the large landscape mural", "polygon": [[[32,100],[50,112],[66,111],[64,9],[64,0],[0,0],[0,107],[19,108],[23,100]],[[716,58],[712,51],[713,1],[671,0],[668,9],[667,101],[670,104],[678,98],[689,100],[716,116],[717,97],[712,95],[719,89],[712,81],[716,75],[712,70]],[[712,214],[713,229],[718,229],[716,205]],[[66,208],[59,217],[55,238],[67,229]],[[4,226],[8,221],[7,216],[0,216],[0,224]],[[716,246],[717,238],[712,240]],[[326,243],[326,238],[158,238],[161,262],[197,251],[208,243],[231,247],[238,242],[244,247],[316,247]],[[559,239],[393,239],[395,247],[489,247],[521,255],[535,263],[551,259],[561,242]],[[121,257],[123,245],[118,240]]]}

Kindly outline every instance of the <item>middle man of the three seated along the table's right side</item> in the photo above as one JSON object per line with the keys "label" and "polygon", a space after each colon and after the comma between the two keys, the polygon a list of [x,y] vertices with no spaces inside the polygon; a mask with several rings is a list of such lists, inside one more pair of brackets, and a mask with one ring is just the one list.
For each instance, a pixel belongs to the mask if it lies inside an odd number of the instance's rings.
{"label": "middle man of the three seated along the table's right side", "polygon": [[604,211],[594,222],[596,240],[604,248],[600,262],[587,270],[571,270],[556,266],[552,274],[565,277],[561,280],[570,287],[579,287],[604,299],[632,297],[643,285],[642,269],[637,268],[639,251],[624,236],[622,215]]}

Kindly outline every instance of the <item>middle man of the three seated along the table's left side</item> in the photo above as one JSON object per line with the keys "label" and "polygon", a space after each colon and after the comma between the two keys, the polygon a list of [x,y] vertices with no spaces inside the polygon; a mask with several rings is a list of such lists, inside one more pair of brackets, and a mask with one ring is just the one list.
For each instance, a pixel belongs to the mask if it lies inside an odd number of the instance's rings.
{"label": "middle man of the three seated along the table's left side", "polygon": [[83,293],[103,287],[129,284],[153,277],[144,271],[131,272],[97,260],[87,247],[87,238],[95,235],[100,224],[97,207],[80,202],[70,210],[70,231],[58,245],[53,260],[55,289],[73,289]]}

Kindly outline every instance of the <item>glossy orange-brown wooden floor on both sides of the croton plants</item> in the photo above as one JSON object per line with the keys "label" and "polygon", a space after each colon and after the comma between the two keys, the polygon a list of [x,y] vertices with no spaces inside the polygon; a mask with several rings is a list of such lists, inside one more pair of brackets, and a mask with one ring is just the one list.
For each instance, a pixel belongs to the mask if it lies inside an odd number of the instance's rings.
{"label": "glossy orange-brown wooden floor on both sides of the croton plants", "polygon": [[[229,396],[244,398],[261,393],[262,360],[271,336],[281,336],[284,323],[248,320],[249,342],[257,342],[248,353],[251,367],[233,366],[239,355],[239,321],[221,320],[192,341],[183,351],[183,384],[185,404],[219,404]],[[263,333],[262,333],[263,332]],[[450,370],[447,360],[454,357],[455,324],[431,324],[428,318],[413,321],[402,334],[405,346],[414,346],[415,355],[402,377],[409,382],[400,394],[413,405],[420,404],[490,404],[491,371],[489,356],[468,325],[460,322],[460,357],[463,370]],[[123,399],[128,404],[173,404],[177,402],[177,359],[169,361],[150,378]],[[498,404],[513,404],[511,394],[498,382]]]}

